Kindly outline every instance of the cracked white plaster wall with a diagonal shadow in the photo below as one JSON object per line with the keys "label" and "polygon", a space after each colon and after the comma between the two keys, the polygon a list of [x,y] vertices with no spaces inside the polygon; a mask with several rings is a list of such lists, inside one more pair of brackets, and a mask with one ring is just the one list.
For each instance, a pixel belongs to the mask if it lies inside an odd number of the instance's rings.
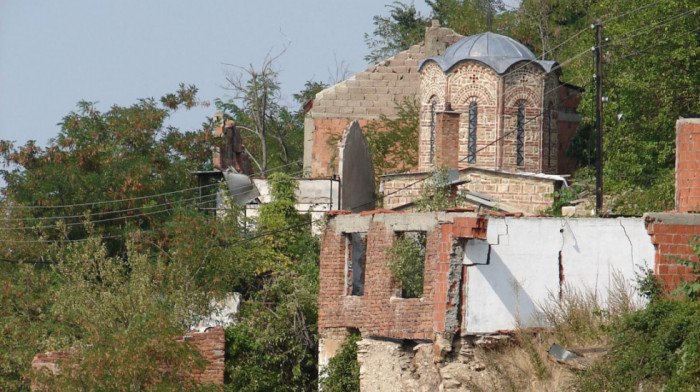
{"label": "cracked white plaster wall with a diagonal shadow", "polygon": [[642,218],[490,218],[487,240],[488,264],[467,268],[467,333],[539,326],[538,304],[564,285],[604,302],[615,273],[631,284],[654,261]]}

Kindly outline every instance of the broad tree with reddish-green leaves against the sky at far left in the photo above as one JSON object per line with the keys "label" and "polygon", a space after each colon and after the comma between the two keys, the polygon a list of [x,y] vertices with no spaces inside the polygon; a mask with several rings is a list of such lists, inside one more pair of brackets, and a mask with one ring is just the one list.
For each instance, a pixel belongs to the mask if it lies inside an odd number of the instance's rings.
{"label": "broad tree with reddish-green leaves against the sky at far left", "polygon": [[183,191],[193,185],[189,171],[211,166],[216,141],[211,132],[181,132],[166,120],[178,107],[196,105],[196,92],[181,85],[160,104],[142,99],[106,112],[80,102],[46,148],[0,141],[7,203],[0,241],[11,244],[0,255],[35,257],[43,247],[37,241],[84,239],[85,218],[96,235],[110,237],[110,253],[123,252],[124,232],[157,229],[175,206],[193,204],[196,191]]}

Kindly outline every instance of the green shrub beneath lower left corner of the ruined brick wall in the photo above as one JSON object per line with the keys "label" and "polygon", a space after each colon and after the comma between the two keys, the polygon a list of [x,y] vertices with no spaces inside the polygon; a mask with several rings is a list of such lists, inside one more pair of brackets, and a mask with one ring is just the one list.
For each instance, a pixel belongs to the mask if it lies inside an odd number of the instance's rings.
{"label": "green shrub beneath lower left corner of the ruined brick wall", "polygon": [[340,350],[321,370],[323,392],[359,392],[360,364],[357,362],[357,342],[362,340],[359,332],[350,334]]}

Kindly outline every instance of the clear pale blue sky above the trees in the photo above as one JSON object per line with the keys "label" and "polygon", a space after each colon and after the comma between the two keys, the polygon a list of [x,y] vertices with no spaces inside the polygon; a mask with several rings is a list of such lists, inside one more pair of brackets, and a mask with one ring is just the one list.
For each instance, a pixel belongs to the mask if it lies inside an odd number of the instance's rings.
{"label": "clear pale blue sky above the trees", "polygon": [[[277,63],[285,103],[336,64],[366,67],[364,33],[390,0],[0,0],[0,139],[46,145],[80,100],[106,110],[159,98],[179,83],[225,97],[223,63]],[[417,0],[426,15],[428,6]],[[215,109],[170,123],[196,129]]]}

